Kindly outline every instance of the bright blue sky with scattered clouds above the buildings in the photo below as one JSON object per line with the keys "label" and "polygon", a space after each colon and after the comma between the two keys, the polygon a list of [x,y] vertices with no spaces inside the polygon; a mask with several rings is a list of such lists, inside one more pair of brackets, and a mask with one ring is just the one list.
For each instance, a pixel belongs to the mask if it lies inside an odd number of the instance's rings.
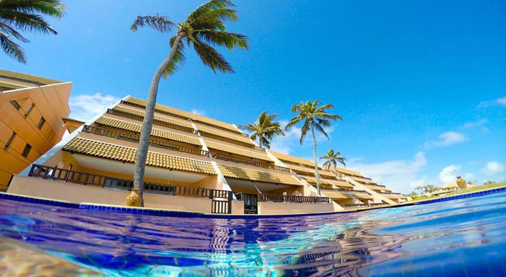
{"label": "bright blue sky with scattered clouds above the buildings", "polygon": [[[86,118],[125,95],[146,99],[168,37],[129,30],[137,15],[182,21],[201,1],[65,1],[57,36],[27,34],[28,63],[0,67],[73,81],[72,116]],[[235,74],[214,74],[191,52],[162,81],[158,102],[235,124],[264,110],[319,99],[343,122],[318,155],[341,151],[349,167],[394,190],[467,179],[506,180],[504,1],[235,1],[249,51],[223,51]],[[298,129],[274,150],[312,156]]]}

